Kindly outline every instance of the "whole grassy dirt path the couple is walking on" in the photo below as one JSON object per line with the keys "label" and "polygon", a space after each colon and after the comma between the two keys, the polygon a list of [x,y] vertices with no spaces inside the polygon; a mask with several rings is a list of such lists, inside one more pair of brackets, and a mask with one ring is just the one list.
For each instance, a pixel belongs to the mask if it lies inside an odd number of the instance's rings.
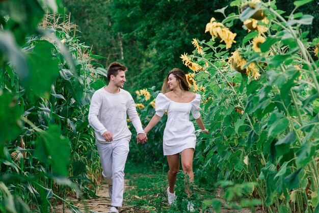
{"label": "whole grassy dirt path the couple is walking on", "polygon": [[[119,208],[120,212],[188,212],[186,207],[188,199],[184,193],[184,178],[181,172],[178,174],[176,181],[176,204],[172,207],[168,205],[166,195],[166,189],[168,187],[166,170],[167,168],[165,167],[154,169],[142,164],[127,162],[125,167],[124,200],[123,206]],[[194,190],[195,193],[192,195],[191,201],[195,205],[196,212],[215,212],[210,205],[204,205],[204,203],[207,203],[207,200],[213,198],[225,204],[220,189],[199,188],[195,183]],[[96,191],[96,195],[96,198],[88,200],[77,200],[74,196],[70,196],[67,200],[81,208],[82,212],[109,212],[111,198],[109,197],[108,185],[105,181],[101,182],[101,185]],[[55,208],[54,212],[72,212],[66,206],[65,208],[66,209],[63,210],[63,205],[59,205]],[[223,208],[220,212],[261,213],[263,211],[260,210],[260,208],[254,208],[253,211],[250,208],[242,208],[241,210]]]}

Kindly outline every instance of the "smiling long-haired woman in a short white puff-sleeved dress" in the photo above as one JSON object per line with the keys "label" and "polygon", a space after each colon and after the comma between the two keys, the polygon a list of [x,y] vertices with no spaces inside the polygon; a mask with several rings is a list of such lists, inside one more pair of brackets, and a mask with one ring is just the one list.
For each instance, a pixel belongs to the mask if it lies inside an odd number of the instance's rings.
{"label": "smiling long-haired woman in a short white puff-sleeved dress", "polygon": [[[162,92],[155,100],[155,115],[152,117],[144,131],[147,134],[167,110],[167,123],[164,130],[163,150],[167,155],[169,165],[167,188],[168,203],[172,205],[176,199],[175,182],[179,170],[179,155],[183,171],[189,176],[193,183],[193,156],[196,145],[195,128],[190,121],[190,112],[196,119],[201,131],[208,134],[200,116],[200,95],[190,92],[186,76],[180,69],[172,69],[164,80]],[[185,192],[190,197],[190,185],[186,185]],[[194,212],[194,204],[188,202],[188,210]]]}

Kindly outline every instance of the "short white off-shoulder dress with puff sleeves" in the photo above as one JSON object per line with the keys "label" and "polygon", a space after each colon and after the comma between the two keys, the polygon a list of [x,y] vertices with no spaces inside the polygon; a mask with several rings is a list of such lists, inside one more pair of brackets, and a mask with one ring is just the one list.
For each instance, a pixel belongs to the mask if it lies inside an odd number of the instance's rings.
{"label": "short white off-shoulder dress with puff sleeves", "polygon": [[196,94],[191,102],[179,103],[159,93],[155,99],[156,115],[162,117],[166,110],[168,117],[163,137],[164,155],[180,153],[187,148],[195,149],[195,128],[190,121],[190,112],[195,119],[200,117],[200,95]]}

